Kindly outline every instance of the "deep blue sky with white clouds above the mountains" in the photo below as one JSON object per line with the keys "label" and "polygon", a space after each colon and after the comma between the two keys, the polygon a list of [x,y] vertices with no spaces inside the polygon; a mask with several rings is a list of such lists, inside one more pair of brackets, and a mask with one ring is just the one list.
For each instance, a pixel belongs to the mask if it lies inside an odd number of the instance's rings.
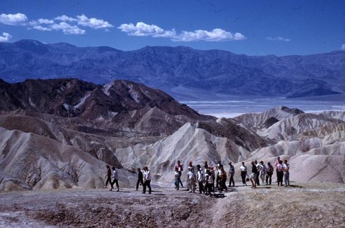
{"label": "deep blue sky with white clouds above the mountains", "polygon": [[0,41],[184,45],[285,56],[345,50],[345,1],[1,0]]}

